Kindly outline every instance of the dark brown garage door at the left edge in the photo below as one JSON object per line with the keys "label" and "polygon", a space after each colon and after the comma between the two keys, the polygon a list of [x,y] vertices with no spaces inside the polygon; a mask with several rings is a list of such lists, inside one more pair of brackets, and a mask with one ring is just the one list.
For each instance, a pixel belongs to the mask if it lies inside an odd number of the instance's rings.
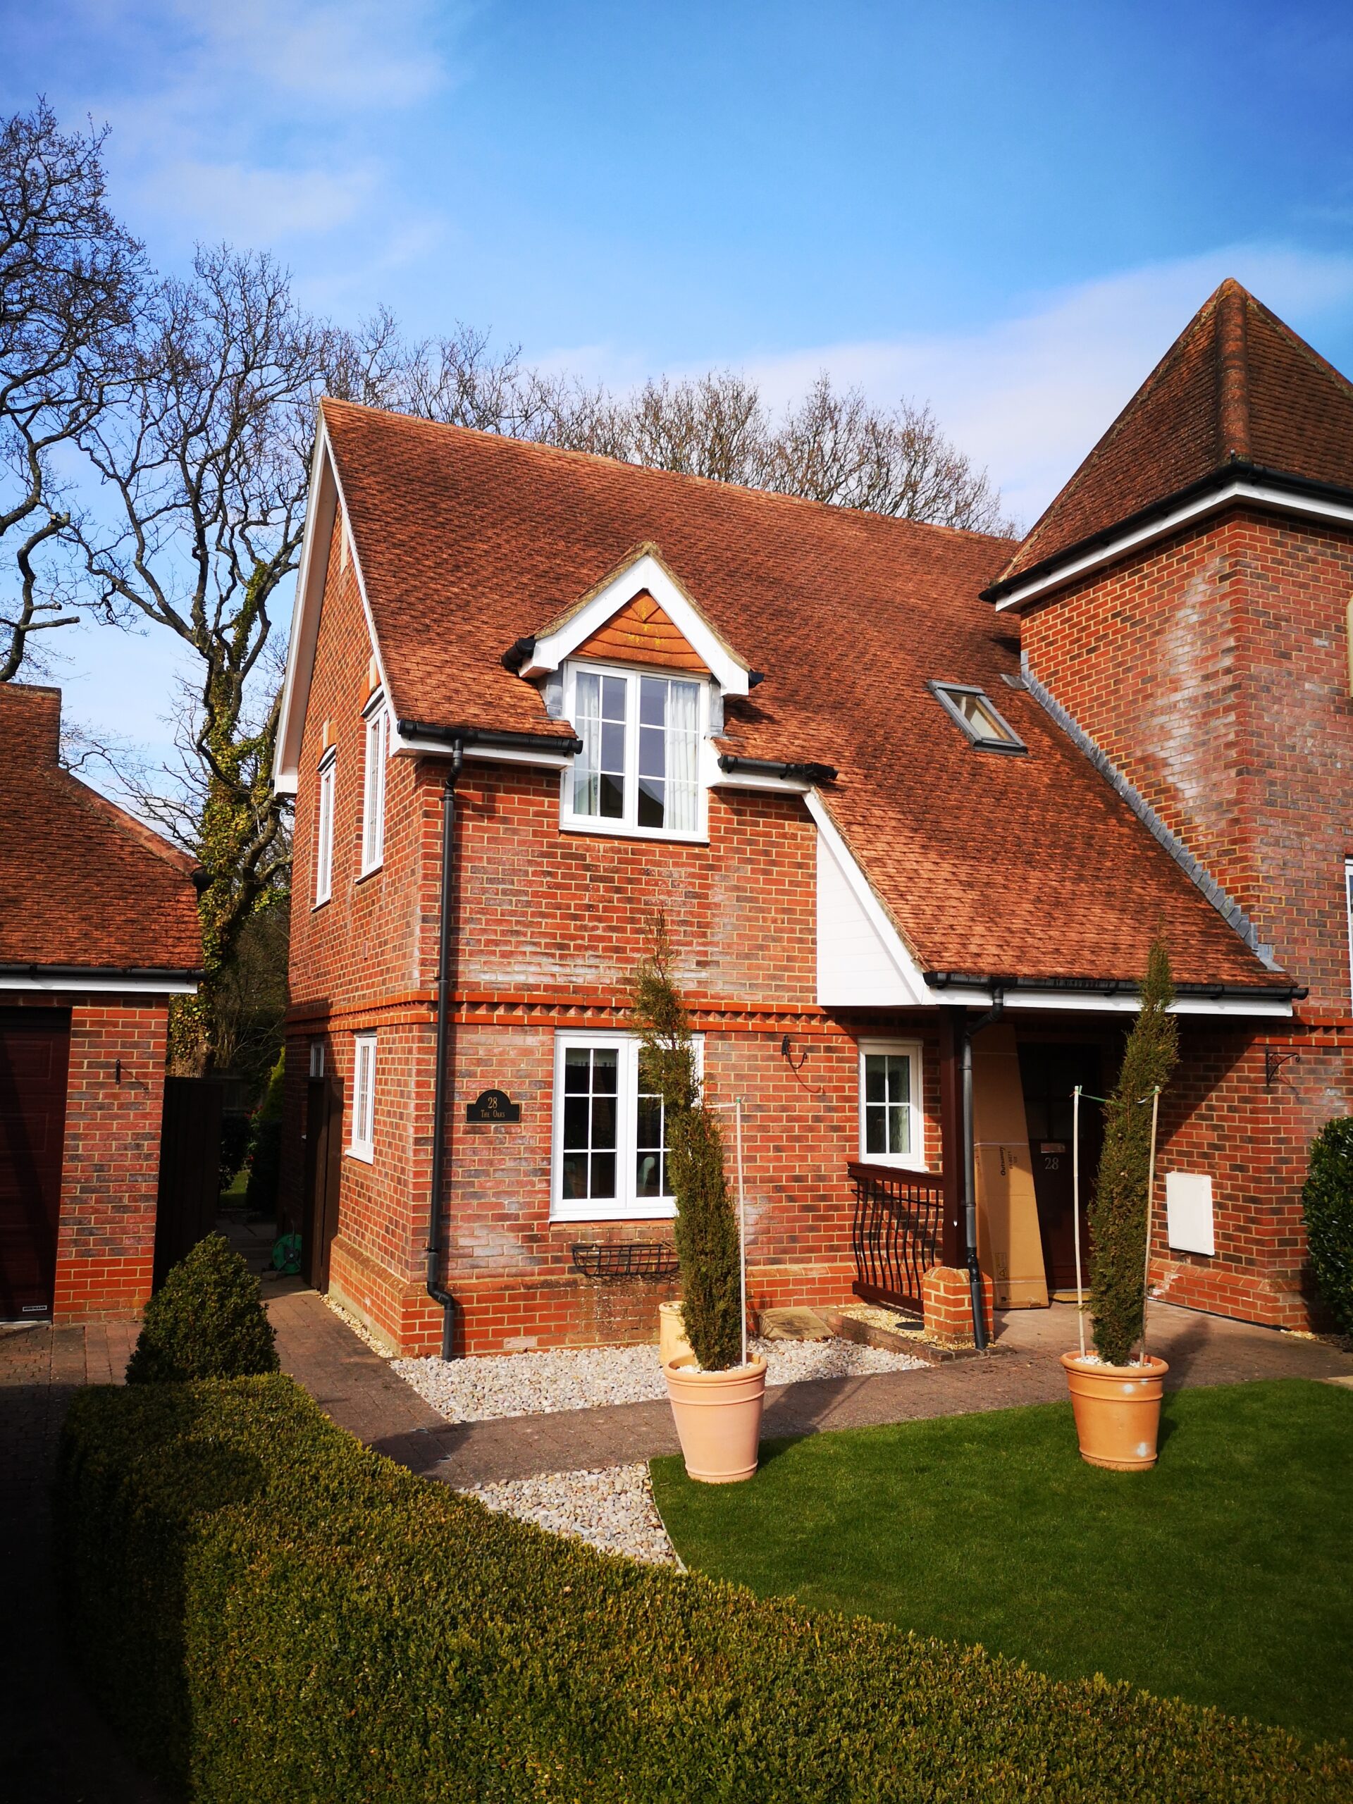
{"label": "dark brown garage door at the left edge", "polygon": [[52,1313],[70,1016],[0,1010],[0,1321]]}

